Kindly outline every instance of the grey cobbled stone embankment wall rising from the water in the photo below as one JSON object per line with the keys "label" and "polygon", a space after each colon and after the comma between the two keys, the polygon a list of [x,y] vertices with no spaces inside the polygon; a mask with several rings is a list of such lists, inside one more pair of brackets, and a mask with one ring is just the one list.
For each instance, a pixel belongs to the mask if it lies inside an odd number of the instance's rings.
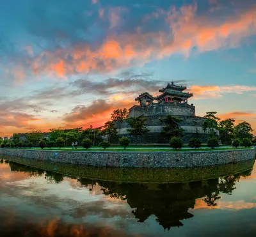
{"label": "grey cobbled stone embankment wall rising from the water", "polygon": [[255,149],[225,151],[44,151],[0,149],[0,155],[112,167],[196,167],[253,160]]}

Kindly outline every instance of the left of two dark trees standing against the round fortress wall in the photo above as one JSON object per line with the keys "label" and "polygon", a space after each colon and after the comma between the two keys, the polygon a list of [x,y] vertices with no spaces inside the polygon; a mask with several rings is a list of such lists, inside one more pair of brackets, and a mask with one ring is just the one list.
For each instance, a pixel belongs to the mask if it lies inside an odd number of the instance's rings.
{"label": "left of two dark trees standing against the round fortress wall", "polygon": [[131,126],[131,128],[128,128],[127,131],[129,132],[129,135],[135,137],[136,144],[138,142],[138,136],[147,134],[147,132],[149,132],[146,126],[146,121],[147,118],[144,115],[127,119],[127,123]]}

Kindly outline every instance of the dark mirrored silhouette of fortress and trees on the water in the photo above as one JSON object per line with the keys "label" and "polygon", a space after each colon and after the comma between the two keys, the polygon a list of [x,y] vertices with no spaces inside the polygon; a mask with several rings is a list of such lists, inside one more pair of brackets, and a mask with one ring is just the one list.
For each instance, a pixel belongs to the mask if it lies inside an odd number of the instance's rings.
{"label": "dark mirrored silhouette of fortress and trees on the water", "polygon": [[148,217],[155,215],[156,221],[169,230],[171,227],[183,226],[181,220],[193,217],[189,209],[194,208],[196,199],[203,197],[205,206],[217,206],[221,193],[231,195],[241,176],[249,174],[250,171],[246,171],[190,183],[141,184],[99,181],[99,185],[103,194],[126,200],[131,208],[134,208],[132,214],[138,222],[145,222]]}

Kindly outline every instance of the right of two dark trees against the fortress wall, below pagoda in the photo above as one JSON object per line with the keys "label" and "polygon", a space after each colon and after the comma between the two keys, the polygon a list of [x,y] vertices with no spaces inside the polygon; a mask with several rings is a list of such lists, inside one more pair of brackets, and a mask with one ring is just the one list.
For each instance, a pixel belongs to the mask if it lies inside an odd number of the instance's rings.
{"label": "right of two dark trees against the fortress wall, below pagoda", "polygon": [[172,137],[183,137],[184,129],[179,128],[179,123],[182,121],[182,119],[168,115],[164,118],[159,119],[162,123],[164,123],[164,126],[162,128],[161,134],[166,139],[171,139]]}

